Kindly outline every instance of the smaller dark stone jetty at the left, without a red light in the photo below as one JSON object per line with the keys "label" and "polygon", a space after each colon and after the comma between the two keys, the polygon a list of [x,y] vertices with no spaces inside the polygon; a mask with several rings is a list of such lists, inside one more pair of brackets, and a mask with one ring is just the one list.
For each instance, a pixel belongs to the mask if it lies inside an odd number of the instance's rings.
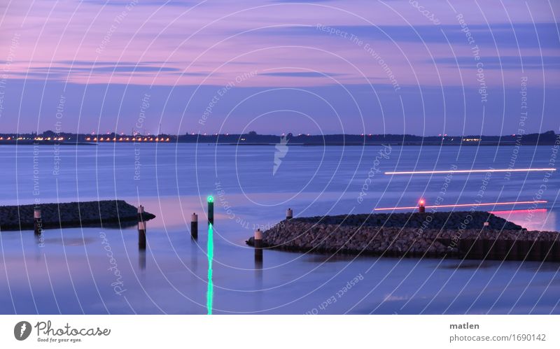
{"label": "smaller dark stone jetty at the left, without a red light", "polygon": [[[62,204],[0,206],[0,230],[25,230],[34,227],[34,209],[41,209],[43,229],[68,227],[129,227],[137,224],[138,211],[123,200],[84,201]],[[144,220],[155,215],[144,213]]]}

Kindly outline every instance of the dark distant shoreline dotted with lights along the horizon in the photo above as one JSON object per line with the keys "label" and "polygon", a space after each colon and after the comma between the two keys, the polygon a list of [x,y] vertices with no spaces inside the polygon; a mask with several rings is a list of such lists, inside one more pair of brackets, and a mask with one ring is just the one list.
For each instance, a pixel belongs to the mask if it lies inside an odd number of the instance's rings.
{"label": "dark distant shoreline dotted with lights along the horizon", "polygon": [[45,131],[43,134],[1,134],[0,145],[97,145],[145,143],[200,143],[219,145],[560,145],[560,134],[512,134],[507,136],[415,136],[411,134],[66,134]]}

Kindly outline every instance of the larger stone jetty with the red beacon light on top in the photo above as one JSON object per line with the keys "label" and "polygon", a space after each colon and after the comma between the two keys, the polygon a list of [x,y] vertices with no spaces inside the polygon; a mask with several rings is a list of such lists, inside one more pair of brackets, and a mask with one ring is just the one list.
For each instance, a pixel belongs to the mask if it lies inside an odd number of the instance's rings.
{"label": "larger stone jetty with the red beacon light on top", "polygon": [[[254,245],[253,238],[246,243]],[[262,245],[297,252],[560,262],[558,232],[528,231],[483,211],[294,218],[264,232]]]}

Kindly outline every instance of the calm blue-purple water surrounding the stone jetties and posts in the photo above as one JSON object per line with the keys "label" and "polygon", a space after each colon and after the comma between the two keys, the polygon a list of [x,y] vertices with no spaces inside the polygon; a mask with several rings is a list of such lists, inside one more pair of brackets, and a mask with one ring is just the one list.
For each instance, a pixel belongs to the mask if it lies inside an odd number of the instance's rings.
{"label": "calm blue-purple water surrounding the stone jetties and posts", "polygon": [[[288,207],[304,216],[368,213],[414,206],[420,197],[433,203],[446,185],[444,175],[383,171],[500,169],[512,161],[515,168],[548,167],[552,155],[546,146],[519,154],[512,147],[394,146],[382,156],[380,150],[3,145],[1,204],[118,198],[158,217],[148,222],[145,253],[134,227],[49,229],[42,241],[31,231],[1,232],[0,313],[205,314],[209,295],[212,313],[560,313],[559,264],[279,251],[265,251],[262,265],[255,264],[244,241],[255,227],[283,219]],[[274,172],[275,152],[281,162]],[[372,181],[364,188],[368,173]],[[540,198],[548,203],[532,215],[524,211],[528,205],[488,209],[529,229],[559,230],[559,176],[493,173],[485,183],[484,173],[454,174],[440,204]],[[208,194],[216,199],[210,293]],[[189,234],[193,212],[198,241]]]}

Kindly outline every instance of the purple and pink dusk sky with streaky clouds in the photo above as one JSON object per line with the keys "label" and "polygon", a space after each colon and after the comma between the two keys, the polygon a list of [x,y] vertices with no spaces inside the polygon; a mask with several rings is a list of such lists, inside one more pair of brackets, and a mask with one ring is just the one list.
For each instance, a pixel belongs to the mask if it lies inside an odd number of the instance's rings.
{"label": "purple and pink dusk sky with streaky clouds", "polygon": [[4,0],[0,131],[560,133],[559,4]]}

